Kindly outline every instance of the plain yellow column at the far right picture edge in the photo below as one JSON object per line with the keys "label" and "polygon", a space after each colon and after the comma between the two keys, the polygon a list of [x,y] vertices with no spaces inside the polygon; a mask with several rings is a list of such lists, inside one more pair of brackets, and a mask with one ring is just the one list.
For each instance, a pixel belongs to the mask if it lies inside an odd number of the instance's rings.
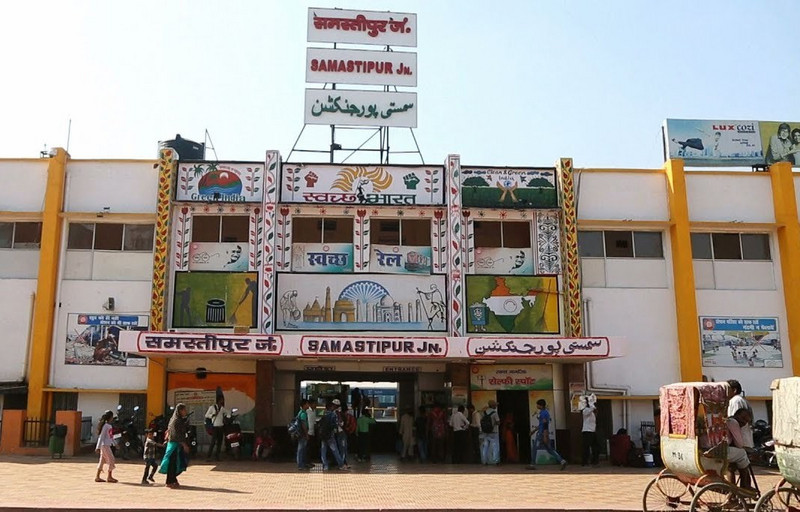
{"label": "plain yellow column at the far right picture edge", "polygon": [[[797,199],[794,192],[792,165],[788,162],[769,168],[772,180],[772,204],[778,225],[778,251],[781,255],[783,300],[786,304],[786,338],[792,353],[792,374],[800,372],[800,224],[797,220]],[[784,345],[785,346],[785,345]]]}

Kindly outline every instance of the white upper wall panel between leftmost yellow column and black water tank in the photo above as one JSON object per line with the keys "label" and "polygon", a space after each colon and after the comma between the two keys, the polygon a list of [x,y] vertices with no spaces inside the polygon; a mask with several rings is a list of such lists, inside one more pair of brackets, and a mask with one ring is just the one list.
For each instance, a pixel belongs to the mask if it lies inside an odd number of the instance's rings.
{"label": "white upper wall panel between leftmost yellow column and black water tank", "polygon": [[72,160],[67,164],[64,210],[155,213],[158,169],[155,160]]}

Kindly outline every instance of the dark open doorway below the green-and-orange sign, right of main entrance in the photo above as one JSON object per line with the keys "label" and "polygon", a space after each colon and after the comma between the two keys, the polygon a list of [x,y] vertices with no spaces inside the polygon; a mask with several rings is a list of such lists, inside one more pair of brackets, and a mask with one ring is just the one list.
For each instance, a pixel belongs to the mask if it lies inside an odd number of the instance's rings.
{"label": "dark open doorway below the green-and-orange sign, right of main entrance", "polygon": [[502,462],[529,463],[531,460],[531,415],[528,400],[526,390],[497,392]]}

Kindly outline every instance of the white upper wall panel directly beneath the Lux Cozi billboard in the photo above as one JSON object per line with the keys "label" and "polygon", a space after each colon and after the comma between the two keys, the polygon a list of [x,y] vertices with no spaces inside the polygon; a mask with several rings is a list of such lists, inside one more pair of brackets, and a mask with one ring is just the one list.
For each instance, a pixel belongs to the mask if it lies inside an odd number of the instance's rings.
{"label": "white upper wall panel directly beneath the Lux Cozi billboard", "polygon": [[690,221],[775,222],[767,173],[686,173]]}

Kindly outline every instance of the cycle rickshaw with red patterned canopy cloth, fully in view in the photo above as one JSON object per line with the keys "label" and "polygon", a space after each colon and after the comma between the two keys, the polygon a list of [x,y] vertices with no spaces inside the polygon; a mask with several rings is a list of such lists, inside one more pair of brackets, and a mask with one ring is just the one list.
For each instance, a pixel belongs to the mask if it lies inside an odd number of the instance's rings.
{"label": "cycle rickshaw with red patterned canopy cloth, fully in view", "polygon": [[[726,382],[683,382],[662,386],[661,471],[644,491],[648,511],[742,511],[752,508],[756,490],[728,481],[728,398]],[[752,469],[749,469],[751,476]],[[756,485],[755,478],[752,478]]]}

